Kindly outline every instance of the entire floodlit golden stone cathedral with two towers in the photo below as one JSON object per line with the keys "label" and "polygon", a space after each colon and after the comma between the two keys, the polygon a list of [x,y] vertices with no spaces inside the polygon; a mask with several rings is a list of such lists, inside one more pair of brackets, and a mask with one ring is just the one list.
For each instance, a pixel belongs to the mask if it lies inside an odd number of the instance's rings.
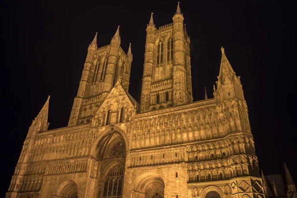
{"label": "entire floodlit golden stone cathedral with two towers", "polygon": [[68,126],[48,130],[48,98],[29,128],[6,198],[297,198],[286,165],[282,194],[281,179],[259,171],[228,52],[221,48],[213,97],[193,102],[180,5],[159,28],[151,13],[146,31],[141,102],[128,93],[133,55],[131,44],[127,53],[120,46],[120,27],[100,48],[96,34]]}

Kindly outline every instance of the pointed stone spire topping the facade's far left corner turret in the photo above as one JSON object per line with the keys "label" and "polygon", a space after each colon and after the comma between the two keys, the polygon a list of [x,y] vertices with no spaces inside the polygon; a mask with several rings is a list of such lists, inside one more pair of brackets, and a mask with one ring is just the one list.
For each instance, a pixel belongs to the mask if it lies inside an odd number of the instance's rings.
{"label": "pointed stone spire topping the facade's far left corner turret", "polygon": [[40,131],[47,131],[49,127],[48,116],[49,116],[49,98],[48,97],[45,105],[42,107],[41,111],[37,115],[37,117],[33,120],[31,126],[38,127]]}

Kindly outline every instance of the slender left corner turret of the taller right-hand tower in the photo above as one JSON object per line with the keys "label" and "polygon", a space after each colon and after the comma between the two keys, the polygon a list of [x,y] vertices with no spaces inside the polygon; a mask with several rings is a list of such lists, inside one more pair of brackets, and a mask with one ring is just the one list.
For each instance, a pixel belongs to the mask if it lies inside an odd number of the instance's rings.
{"label": "slender left corner turret of the taller right-hand tower", "polygon": [[153,23],[152,14],[147,27],[147,41],[146,41],[146,52],[145,52],[145,63],[144,63],[144,74],[142,84],[142,95],[141,95],[141,112],[149,110],[150,105],[150,85],[152,81],[152,66],[153,66],[153,48],[155,40],[155,25]]}

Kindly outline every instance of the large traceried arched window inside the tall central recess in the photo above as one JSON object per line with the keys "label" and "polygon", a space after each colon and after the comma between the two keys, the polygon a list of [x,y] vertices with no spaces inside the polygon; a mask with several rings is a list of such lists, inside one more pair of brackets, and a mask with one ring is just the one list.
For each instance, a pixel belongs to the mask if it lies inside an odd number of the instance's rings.
{"label": "large traceried arched window inside the tall central recess", "polygon": [[103,198],[121,198],[123,190],[124,168],[116,165],[109,172],[104,182]]}

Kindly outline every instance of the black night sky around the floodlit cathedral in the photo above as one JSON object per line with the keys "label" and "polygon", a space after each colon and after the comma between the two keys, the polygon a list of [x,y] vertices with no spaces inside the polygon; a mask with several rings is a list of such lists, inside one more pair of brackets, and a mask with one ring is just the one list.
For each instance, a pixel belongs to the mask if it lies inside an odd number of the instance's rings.
{"label": "black night sky around the floodlit cathedral", "polygon": [[[176,1],[1,1],[2,195],[28,128],[50,95],[49,129],[65,127],[89,44],[110,43],[120,25],[121,47],[132,43],[129,93],[140,100],[146,27],[172,22]],[[217,80],[221,51],[241,76],[260,168],[297,182],[296,21],[293,1],[184,0],[191,37],[194,101]]]}

